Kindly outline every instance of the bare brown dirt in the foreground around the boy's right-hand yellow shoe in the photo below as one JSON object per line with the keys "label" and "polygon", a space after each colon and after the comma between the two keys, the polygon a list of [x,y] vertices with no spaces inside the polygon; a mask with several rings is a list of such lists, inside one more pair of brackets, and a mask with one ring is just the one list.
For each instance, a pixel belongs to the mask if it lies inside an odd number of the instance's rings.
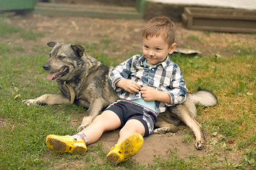
{"label": "bare brown dirt in the foreground around the boy's right-hand yellow shoe", "polygon": [[[150,135],[144,137],[142,149],[132,159],[140,164],[154,164],[154,159],[158,156],[168,159],[169,151],[174,148],[178,149],[178,157],[186,157],[189,154],[203,154],[204,151],[197,150],[193,145],[183,142],[182,132],[167,133],[164,135]],[[100,138],[103,149],[109,151],[117,142],[119,135],[117,132],[106,132]],[[90,146],[88,146],[90,147]]]}

